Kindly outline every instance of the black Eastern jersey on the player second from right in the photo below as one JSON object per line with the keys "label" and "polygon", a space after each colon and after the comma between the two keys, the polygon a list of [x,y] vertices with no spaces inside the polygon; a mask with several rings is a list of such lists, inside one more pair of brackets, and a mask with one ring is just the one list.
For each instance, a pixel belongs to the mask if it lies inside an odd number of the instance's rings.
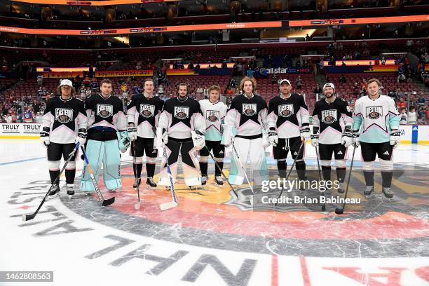
{"label": "black Eastern jersey on the player second from right", "polygon": [[313,128],[319,127],[319,143],[338,144],[346,125],[353,124],[350,107],[346,100],[336,99],[329,103],[325,98],[315,103],[313,110]]}

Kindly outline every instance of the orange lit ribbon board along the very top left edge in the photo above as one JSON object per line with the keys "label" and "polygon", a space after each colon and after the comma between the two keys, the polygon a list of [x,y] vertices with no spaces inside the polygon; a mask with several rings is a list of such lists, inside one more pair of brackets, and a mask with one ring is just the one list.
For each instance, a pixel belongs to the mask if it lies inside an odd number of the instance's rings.
{"label": "orange lit ribbon board along the very top left edge", "polygon": [[178,2],[179,0],[102,0],[102,1],[88,1],[88,0],[14,0],[15,2],[23,2],[29,4],[43,4],[43,5],[69,5],[69,6],[112,6],[112,5],[127,5],[127,4],[147,4],[147,3],[160,3],[160,2]]}

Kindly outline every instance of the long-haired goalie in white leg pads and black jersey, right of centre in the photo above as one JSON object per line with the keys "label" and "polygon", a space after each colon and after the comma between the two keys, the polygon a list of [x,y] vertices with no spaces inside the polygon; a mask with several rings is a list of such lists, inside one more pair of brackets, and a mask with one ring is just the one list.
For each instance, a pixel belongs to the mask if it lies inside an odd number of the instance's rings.
{"label": "long-haired goalie in white leg pads and black jersey, right of centre", "polygon": [[[250,158],[254,171],[255,184],[259,185],[261,181],[268,179],[262,140],[263,130],[267,126],[268,111],[265,100],[254,93],[256,86],[257,83],[254,79],[245,76],[240,82],[240,90],[243,93],[233,98],[225,116],[224,145],[229,147],[233,144],[241,162],[241,164],[238,162],[237,154],[233,152],[229,172],[231,184],[243,184],[248,158]],[[258,170],[259,173],[257,173]]]}

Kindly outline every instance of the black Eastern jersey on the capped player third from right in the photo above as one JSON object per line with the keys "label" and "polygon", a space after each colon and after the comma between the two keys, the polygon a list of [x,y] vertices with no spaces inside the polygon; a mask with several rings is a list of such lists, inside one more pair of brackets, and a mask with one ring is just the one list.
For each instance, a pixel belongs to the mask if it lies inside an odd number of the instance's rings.
{"label": "black Eastern jersey on the capped player third from right", "polygon": [[308,125],[308,107],[302,95],[292,93],[287,99],[271,98],[268,103],[268,127],[275,128],[279,138],[300,135],[300,128]]}

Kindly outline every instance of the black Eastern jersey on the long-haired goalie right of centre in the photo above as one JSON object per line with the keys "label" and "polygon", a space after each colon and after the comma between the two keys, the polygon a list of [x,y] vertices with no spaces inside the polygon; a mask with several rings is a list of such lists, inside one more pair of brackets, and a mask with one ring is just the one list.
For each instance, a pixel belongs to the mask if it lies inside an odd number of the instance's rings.
{"label": "black Eastern jersey on the long-haired goalie right of centre", "polygon": [[267,106],[259,95],[237,95],[226,112],[225,124],[236,128],[239,136],[261,135],[266,128]]}

